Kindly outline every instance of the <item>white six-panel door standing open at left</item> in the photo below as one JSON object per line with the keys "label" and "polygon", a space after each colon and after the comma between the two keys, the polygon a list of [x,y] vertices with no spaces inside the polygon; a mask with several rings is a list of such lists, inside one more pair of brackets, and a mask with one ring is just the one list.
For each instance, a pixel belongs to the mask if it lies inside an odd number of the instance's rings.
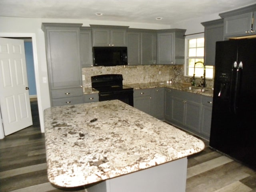
{"label": "white six-panel door standing open at left", "polygon": [[4,135],[32,125],[23,40],[0,38],[0,108]]}

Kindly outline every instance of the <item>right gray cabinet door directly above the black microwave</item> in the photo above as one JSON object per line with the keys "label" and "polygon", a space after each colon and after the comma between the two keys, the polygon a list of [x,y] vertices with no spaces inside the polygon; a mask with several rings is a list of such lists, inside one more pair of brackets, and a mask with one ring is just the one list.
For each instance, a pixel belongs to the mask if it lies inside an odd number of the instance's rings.
{"label": "right gray cabinet door directly above the black microwave", "polygon": [[110,31],[110,46],[123,47],[126,46],[126,30],[112,29]]}

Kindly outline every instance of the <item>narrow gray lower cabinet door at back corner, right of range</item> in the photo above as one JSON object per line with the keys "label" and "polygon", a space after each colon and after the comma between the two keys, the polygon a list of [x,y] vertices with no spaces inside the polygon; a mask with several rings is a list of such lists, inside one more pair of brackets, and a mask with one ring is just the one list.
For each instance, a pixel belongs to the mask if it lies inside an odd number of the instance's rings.
{"label": "narrow gray lower cabinet door at back corner, right of range", "polygon": [[[154,88],[152,114],[158,119],[164,119],[164,88]],[[154,113],[153,113],[154,112]]]}

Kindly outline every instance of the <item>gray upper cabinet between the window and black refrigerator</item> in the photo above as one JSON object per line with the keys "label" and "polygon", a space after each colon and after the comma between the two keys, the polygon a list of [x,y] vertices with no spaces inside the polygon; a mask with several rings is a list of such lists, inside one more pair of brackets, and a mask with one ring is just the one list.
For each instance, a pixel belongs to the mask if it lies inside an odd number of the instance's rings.
{"label": "gray upper cabinet between the window and black refrigerator", "polygon": [[204,26],[204,64],[215,66],[216,42],[223,40],[223,19],[201,24]]}

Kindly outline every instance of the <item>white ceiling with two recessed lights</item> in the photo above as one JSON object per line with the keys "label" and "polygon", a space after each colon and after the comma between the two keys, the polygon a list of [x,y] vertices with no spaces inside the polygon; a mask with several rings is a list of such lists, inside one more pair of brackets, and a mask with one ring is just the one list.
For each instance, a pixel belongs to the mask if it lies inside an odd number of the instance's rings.
{"label": "white ceiling with two recessed lights", "polygon": [[255,0],[0,0],[0,16],[173,25],[251,4]]}

